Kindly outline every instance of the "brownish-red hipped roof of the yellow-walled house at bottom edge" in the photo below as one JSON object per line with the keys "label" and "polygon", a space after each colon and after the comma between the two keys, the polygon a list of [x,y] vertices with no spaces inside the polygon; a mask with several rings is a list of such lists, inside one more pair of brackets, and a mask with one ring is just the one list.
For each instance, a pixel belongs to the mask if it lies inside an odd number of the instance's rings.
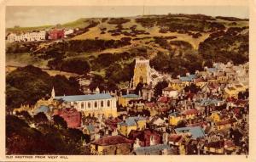
{"label": "brownish-red hipped roof of the yellow-walled house at bottom edge", "polygon": [[118,135],[118,136],[102,137],[91,143],[101,145],[101,146],[109,146],[109,145],[116,145],[120,143],[133,143],[133,141],[129,140],[126,137]]}

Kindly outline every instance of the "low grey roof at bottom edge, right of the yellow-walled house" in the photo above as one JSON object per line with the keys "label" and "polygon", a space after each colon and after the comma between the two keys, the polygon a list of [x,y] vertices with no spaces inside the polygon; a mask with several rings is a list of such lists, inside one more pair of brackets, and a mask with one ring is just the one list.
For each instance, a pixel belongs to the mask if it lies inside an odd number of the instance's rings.
{"label": "low grey roof at bottom edge, right of the yellow-walled house", "polygon": [[159,155],[160,151],[167,149],[171,150],[170,146],[167,144],[157,144],[153,146],[148,146],[148,147],[140,147],[136,148],[134,152],[136,154],[154,154],[154,155]]}

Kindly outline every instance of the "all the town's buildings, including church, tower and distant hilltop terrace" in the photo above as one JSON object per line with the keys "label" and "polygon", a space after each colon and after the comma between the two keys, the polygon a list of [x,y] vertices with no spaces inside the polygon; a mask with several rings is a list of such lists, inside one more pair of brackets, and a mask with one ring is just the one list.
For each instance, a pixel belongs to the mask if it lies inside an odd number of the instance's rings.
{"label": "all the town's buildings, including church, tower and distant hilltop terrace", "polygon": [[[28,37],[19,39],[44,39]],[[24,103],[12,114],[46,116],[31,122],[32,128],[59,121],[58,127],[82,131],[89,138],[83,140],[84,154],[248,154],[248,67],[214,63],[173,78],[137,57],[123,89],[90,91],[80,78],[84,95],[55,94],[52,87],[49,98]]]}

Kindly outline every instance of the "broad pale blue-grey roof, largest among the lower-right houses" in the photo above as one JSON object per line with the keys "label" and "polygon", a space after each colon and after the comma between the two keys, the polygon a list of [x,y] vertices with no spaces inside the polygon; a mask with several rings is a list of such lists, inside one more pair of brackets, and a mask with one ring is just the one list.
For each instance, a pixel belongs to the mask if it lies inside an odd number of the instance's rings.
{"label": "broad pale blue-grey roof, largest among the lower-right houses", "polygon": [[176,128],[175,131],[177,133],[182,133],[183,131],[189,131],[192,135],[192,138],[194,138],[194,139],[196,139],[198,137],[205,137],[205,132],[201,129],[200,126],[181,127],[181,128]]}

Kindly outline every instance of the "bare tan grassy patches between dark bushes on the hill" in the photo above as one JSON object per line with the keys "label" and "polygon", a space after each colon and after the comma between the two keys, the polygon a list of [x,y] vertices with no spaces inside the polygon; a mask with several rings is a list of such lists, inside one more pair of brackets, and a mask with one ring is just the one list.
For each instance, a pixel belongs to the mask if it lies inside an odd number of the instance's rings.
{"label": "bare tan grassy patches between dark bushes on the hill", "polygon": [[[158,26],[154,26],[152,28],[144,28],[142,25],[136,23],[135,21],[135,17],[130,17],[129,18],[131,21],[127,22],[125,24],[123,24],[124,28],[130,28],[132,25],[137,25],[137,30],[144,30],[150,33],[150,35],[137,35],[137,38],[142,38],[145,36],[150,36],[150,37],[154,37],[154,36],[177,36],[176,39],[172,39],[172,40],[179,40],[179,41],[185,41],[185,42],[189,42],[195,49],[198,48],[200,42],[203,42],[205,39],[207,39],[207,37],[210,35],[210,33],[201,33],[202,36],[200,36],[199,38],[193,38],[192,36],[189,36],[188,34],[180,34],[177,32],[168,32],[168,33],[160,33],[159,32],[159,27]],[[189,18],[183,18],[183,19],[189,19]],[[96,22],[100,22],[102,19],[79,19],[79,20],[75,20],[73,22],[69,22],[66,24],[61,25],[62,27],[65,28],[82,28],[82,27],[86,27],[90,24],[90,20],[94,20]],[[227,20],[216,20],[217,22],[221,22],[224,25],[226,25],[226,27],[242,27],[242,26],[246,26],[248,25],[248,21],[236,21],[237,25],[230,25],[231,21],[227,21]],[[109,30],[114,30],[116,25],[110,25],[108,24],[108,21],[105,21],[103,23],[100,23],[99,25],[96,25],[95,27],[90,28],[90,31],[85,32],[84,34],[81,34],[79,36],[75,36],[72,39],[73,40],[84,40],[84,39],[95,39],[96,37],[98,37],[98,39],[113,39],[113,40],[119,40],[122,37],[127,37],[124,35],[120,35],[120,36],[111,36],[111,34],[108,33]],[[36,30],[36,29],[42,29],[42,28],[49,28],[49,27],[53,27],[53,26],[38,26],[38,27],[32,27],[32,28],[12,28],[12,29],[7,29],[7,31],[12,31],[12,30],[18,30],[18,31],[29,31],[29,30]],[[106,27],[107,30],[105,31],[106,34],[100,34],[101,33],[101,28]],[[129,30],[128,30],[129,31]],[[131,38],[135,38],[135,37],[131,37]],[[125,46],[125,47],[119,47],[119,48],[109,48],[106,50],[103,50],[101,52],[96,52],[96,53],[79,53],[79,55],[76,56],[72,56],[72,57],[68,57],[68,59],[71,58],[87,58],[91,55],[93,56],[97,56],[100,53],[121,53],[121,52],[125,52],[125,51],[130,51],[132,48],[136,48],[136,47],[147,47],[148,49],[148,54],[151,54],[151,56],[153,57],[155,53],[157,53],[158,51],[162,51],[162,52],[166,52],[165,48],[160,47],[159,45],[155,44],[154,42],[150,42],[148,44],[146,44],[146,42],[153,40],[153,38],[149,38],[149,39],[143,39],[143,40],[137,40],[137,41],[131,41],[131,45],[130,46]],[[44,43],[42,43],[42,46],[44,46]],[[33,59],[32,56],[30,56],[28,53],[22,53],[22,54],[10,54],[9,56],[7,56],[7,64],[12,64],[12,65],[25,65],[25,64],[34,64],[38,67],[42,67],[45,68],[47,61],[43,60],[43,59]],[[131,62],[131,60],[127,60],[127,62]],[[102,74],[103,72],[100,71],[100,73]]]}

